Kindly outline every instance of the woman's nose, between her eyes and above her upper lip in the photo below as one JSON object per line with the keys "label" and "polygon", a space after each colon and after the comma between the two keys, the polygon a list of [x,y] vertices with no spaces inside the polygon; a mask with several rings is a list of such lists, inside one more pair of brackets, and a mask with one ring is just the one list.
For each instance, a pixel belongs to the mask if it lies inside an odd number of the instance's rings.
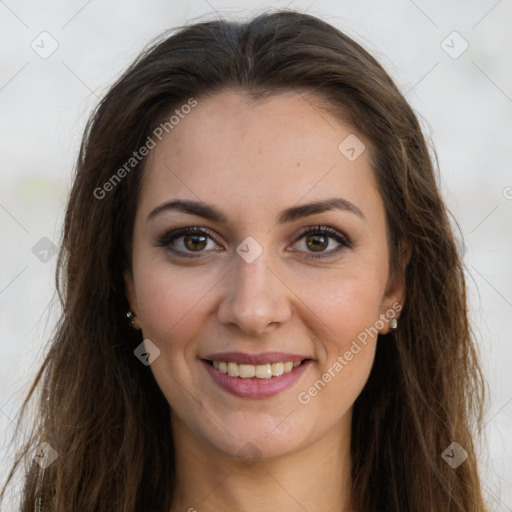
{"label": "woman's nose, between her eyes and above her upper lip", "polygon": [[276,328],[291,316],[290,290],[268,265],[265,251],[252,263],[237,254],[226,276],[218,319],[249,336]]}

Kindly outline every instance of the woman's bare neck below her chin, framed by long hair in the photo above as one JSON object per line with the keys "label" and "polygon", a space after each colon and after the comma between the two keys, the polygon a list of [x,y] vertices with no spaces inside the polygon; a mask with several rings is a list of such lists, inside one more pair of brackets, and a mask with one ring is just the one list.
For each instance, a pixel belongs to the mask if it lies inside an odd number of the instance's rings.
{"label": "woman's bare neck below her chin, framed by long hair", "polygon": [[177,492],[170,512],[352,511],[350,423],[351,411],[315,444],[279,458],[240,460],[174,418]]}

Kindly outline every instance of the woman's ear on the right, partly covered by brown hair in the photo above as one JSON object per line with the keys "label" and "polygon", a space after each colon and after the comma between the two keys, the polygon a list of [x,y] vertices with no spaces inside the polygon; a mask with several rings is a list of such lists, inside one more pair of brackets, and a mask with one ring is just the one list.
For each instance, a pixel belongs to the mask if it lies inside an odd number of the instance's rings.
{"label": "woman's ear on the right, partly covered by brown hair", "polygon": [[[390,332],[389,319],[398,319],[405,302],[405,271],[411,259],[412,250],[408,243],[400,242],[398,251],[398,268],[394,272],[390,272],[380,307],[379,313],[382,319],[386,319],[386,322],[384,327],[379,330],[379,334],[388,334]],[[394,315],[390,316],[389,312],[394,312]]]}

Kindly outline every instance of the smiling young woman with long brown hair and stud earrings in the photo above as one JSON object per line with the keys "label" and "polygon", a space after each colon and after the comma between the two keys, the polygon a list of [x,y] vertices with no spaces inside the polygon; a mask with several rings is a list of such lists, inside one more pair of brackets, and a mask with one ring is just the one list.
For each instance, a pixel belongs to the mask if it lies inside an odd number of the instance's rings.
{"label": "smiling young woman with long brown hair and stud earrings", "polygon": [[325,22],[145,51],[86,130],[57,280],[21,510],[486,510],[427,145]]}

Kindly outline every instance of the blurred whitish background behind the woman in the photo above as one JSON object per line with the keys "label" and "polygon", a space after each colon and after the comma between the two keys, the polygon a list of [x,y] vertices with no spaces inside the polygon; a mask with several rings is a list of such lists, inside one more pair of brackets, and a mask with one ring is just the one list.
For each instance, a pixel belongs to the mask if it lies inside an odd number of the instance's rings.
{"label": "blurred whitish background behind the woman", "polygon": [[268,7],[307,11],[359,41],[406,93],[436,148],[489,383],[485,491],[492,510],[512,511],[511,0],[0,0],[0,483],[13,419],[55,321],[50,241],[59,244],[91,108],[164,30]]}

